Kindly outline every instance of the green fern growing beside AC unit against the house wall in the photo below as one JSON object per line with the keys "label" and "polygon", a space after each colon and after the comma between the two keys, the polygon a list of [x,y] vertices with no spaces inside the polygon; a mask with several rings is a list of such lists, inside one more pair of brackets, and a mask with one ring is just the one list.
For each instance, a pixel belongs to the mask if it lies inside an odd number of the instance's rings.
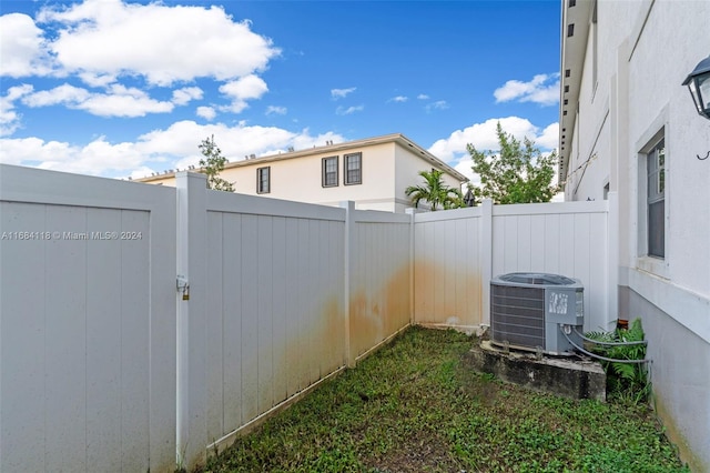
{"label": "green fern growing beside AC unit against the house wall", "polygon": [[[640,342],[643,341],[641,319],[631,322],[628,329],[616,329],[612,332],[589,332],[589,339],[599,342]],[[635,345],[595,345],[591,350],[601,356],[615,360],[646,359],[646,344]],[[607,373],[607,391],[612,396],[629,400],[633,403],[645,402],[651,391],[646,363],[621,363],[602,361]]]}

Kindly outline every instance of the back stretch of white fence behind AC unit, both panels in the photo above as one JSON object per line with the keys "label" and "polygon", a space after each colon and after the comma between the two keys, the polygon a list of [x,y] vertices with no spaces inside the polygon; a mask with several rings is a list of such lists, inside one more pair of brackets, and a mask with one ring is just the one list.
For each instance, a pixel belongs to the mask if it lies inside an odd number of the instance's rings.
{"label": "back stretch of white fence behind AC unit, both panels", "polygon": [[[491,205],[414,217],[414,322],[489,324],[490,279],[545,272],[585,286],[585,330],[616,320],[610,201]],[[613,205],[613,203],[611,203]]]}

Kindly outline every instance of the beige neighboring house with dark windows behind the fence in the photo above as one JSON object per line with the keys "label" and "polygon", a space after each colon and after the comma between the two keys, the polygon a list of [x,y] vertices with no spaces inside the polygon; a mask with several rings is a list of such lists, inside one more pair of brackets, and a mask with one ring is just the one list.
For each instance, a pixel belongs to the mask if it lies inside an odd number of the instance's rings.
{"label": "beige neighboring house with dark windows behind the fence", "polygon": [[[220,177],[234,182],[235,191],[243,194],[324,205],[349,200],[357,209],[404,212],[412,207],[405,189],[420,184],[418,172],[432,169],[443,171],[444,182],[452,188],[460,189],[468,181],[398,133],[245,158],[227,163]],[[140,181],[175,185],[175,175],[170,172]]]}

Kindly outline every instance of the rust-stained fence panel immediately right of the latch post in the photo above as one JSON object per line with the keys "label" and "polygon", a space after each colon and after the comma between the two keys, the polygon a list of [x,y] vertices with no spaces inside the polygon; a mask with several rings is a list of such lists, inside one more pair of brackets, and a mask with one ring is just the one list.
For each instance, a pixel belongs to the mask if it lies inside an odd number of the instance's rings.
{"label": "rust-stained fence panel immediately right of the latch post", "polygon": [[209,191],[194,174],[178,189],[189,221],[205,221],[184,242],[190,301],[179,305],[190,319],[179,443],[191,466],[344,366],[345,211]]}

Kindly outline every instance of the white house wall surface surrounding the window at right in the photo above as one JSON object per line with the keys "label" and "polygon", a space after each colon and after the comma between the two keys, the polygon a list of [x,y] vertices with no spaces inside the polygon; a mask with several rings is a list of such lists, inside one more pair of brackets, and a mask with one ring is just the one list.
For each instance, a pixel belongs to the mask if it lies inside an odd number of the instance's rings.
{"label": "white house wall surface surrounding the window at right", "polygon": [[[639,16],[645,13],[641,10]],[[638,37],[629,42],[636,41],[636,48],[627,71],[632,91],[626,104],[630,192],[623,203],[631,215],[621,227],[628,231],[629,245],[621,265],[632,294],[629,306],[622,309],[628,316],[640,315],[649,346],[658,344],[651,371],[659,412],[677,425],[673,440],[698,471],[710,470],[710,205],[698,204],[710,202],[710,161],[700,161],[696,154],[710,151],[710,122],[694,112],[681,82],[710,53],[708,18],[708,2],[656,1]],[[633,177],[639,175],[643,159],[640,151],[660,128],[667,149],[666,258],[653,261],[643,256],[639,229],[645,192]],[[666,354],[679,346],[682,359]],[[698,370],[703,360],[706,374]]]}

